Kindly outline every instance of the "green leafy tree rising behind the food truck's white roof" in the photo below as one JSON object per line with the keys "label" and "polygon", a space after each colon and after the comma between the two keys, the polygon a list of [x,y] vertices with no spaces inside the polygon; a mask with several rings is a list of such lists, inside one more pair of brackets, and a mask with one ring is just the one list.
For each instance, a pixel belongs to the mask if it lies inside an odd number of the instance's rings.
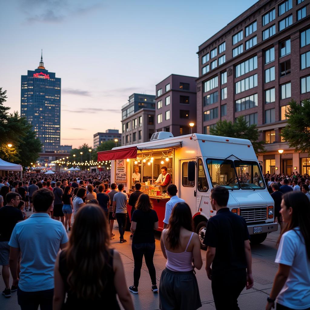
{"label": "green leafy tree rising behind the food truck's white roof", "polygon": [[265,152],[265,141],[258,141],[259,132],[256,125],[248,126],[248,122],[243,116],[239,116],[236,122],[219,121],[215,128],[210,128],[211,135],[218,135],[231,138],[248,139],[251,141],[255,153]]}

